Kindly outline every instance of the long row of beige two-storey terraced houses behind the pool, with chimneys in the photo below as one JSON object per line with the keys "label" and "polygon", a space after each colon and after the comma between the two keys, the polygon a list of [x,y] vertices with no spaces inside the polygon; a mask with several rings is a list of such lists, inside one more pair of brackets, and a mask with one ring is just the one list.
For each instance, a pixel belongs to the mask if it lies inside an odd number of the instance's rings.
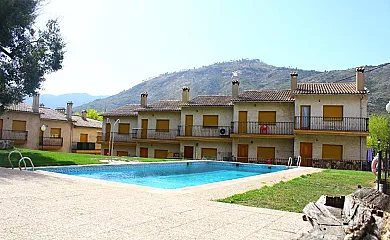
{"label": "long row of beige two-storey terraced houses behind the pool, with chimneys", "polygon": [[[295,72],[290,77],[288,90],[240,93],[235,76],[230,96],[190,99],[190,88],[184,87],[181,100],[150,105],[142,93],[139,105],[105,113],[103,132],[129,135],[126,144],[114,141],[113,155],[273,164],[291,157],[303,166],[366,161],[364,68],[357,68],[356,81],[349,83],[299,83]],[[111,129],[108,118],[119,123]],[[118,132],[121,123],[130,126]],[[111,151],[109,142],[102,140],[103,154]]]}

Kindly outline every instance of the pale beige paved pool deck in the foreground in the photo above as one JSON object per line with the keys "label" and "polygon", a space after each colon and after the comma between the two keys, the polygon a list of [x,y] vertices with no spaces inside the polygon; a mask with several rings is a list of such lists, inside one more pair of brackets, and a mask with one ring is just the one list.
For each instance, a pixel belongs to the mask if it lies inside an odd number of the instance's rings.
{"label": "pale beige paved pool deck in the foreground", "polygon": [[321,171],[179,190],[0,168],[0,239],[294,239],[302,214],[210,201]]}

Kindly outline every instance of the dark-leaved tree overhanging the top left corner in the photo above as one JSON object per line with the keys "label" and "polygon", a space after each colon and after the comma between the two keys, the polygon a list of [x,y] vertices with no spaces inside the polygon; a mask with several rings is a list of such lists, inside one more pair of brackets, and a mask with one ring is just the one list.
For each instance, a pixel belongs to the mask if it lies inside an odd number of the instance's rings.
{"label": "dark-leaved tree overhanging the top left corner", "polygon": [[65,43],[57,20],[38,29],[41,0],[2,0],[0,6],[0,113],[41,88],[45,74],[62,68]]}

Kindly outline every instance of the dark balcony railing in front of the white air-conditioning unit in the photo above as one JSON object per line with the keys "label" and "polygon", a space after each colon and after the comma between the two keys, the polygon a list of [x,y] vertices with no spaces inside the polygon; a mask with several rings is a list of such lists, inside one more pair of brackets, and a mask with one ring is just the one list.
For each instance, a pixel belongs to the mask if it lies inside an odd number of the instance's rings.
{"label": "dark balcony railing in front of the white air-conditioning unit", "polygon": [[179,136],[181,137],[229,137],[229,126],[204,127],[201,125],[179,126]]}

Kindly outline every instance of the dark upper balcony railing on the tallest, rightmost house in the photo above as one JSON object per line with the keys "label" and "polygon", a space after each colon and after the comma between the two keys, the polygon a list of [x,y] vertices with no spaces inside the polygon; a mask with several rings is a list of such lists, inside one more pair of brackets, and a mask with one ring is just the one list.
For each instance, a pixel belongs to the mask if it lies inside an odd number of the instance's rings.
{"label": "dark upper balcony railing on the tallest, rightmost house", "polygon": [[368,118],[296,116],[295,129],[368,132]]}

